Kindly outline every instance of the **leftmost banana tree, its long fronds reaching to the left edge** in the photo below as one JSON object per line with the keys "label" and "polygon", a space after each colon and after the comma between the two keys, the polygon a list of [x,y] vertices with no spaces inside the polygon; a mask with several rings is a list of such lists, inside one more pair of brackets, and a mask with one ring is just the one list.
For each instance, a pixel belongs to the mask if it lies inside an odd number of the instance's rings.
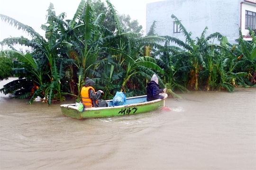
{"label": "leftmost banana tree, its long fronds reaching to the left edge", "polygon": [[[30,26],[26,26],[11,17],[0,15],[2,20],[9,23],[11,26],[15,26],[18,29],[25,31],[28,35],[30,35],[30,37],[32,37],[32,40],[28,40],[27,38],[24,38],[22,36],[18,38],[9,38],[2,41],[1,44],[9,45],[10,47],[12,47],[13,44],[20,44],[33,49],[33,52],[31,52],[30,54],[27,53],[26,55],[21,55],[16,49],[13,48],[9,52],[19,54],[18,56],[22,56],[18,57],[19,61],[29,66],[33,66],[31,69],[29,69],[28,67],[27,69],[28,72],[31,72],[37,77],[35,82],[40,88],[37,89],[37,91],[39,92],[35,92],[35,94],[43,93],[45,95],[44,97],[50,99],[48,100],[48,104],[51,104],[51,99],[54,94],[46,93],[47,88],[49,88],[52,92],[57,91],[57,93],[61,93],[61,89],[55,88],[56,86],[51,85],[51,83],[53,81],[57,81],[58,83],[60,83],[59,79],[55,79],[56,76],[53,76],[56,74],[55,68],[57,67],[57,63],[55,62],[55,60],[57,58],[61,58],[58,50],[60,49],[61,44],[61,42],[59,41],[60,36],[58,34],[59,24],[58,22],[55,22],[55,18],[63,18],[64,15],[61,14],[58,17],[55,16],[55,12],[53,11],[53,9],[53,4],[50,3],[50,6],[47,10],[47,26],[43,25],[41,27],[43,30],[46,31],[46,39],[37,32],[35,32],[35,30]],[[30,103],[31,101],[33,101],[34,98],[35,96],[33,95],[30,99]],[[59,96],[59,98],[57,98],[56,100],[62,101],[62,99],[63,97]]]}

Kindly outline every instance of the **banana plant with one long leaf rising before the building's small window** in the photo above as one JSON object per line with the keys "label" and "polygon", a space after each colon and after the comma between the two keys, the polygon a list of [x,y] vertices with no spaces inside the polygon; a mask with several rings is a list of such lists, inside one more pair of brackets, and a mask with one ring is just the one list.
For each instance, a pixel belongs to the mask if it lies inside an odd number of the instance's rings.
{"label": "banana plant with one long leaf rising before the building's small window", "polygon": [[[218,81],[220,81],[217,80],[216,77],[223,73],[219,70],[222,66],[218,67],[218,63],[222,61],[222,54],[228,53],[228,50],[225,48],[225,44],[228,43],[227,39],[219,33],[213,33],[206,37],[205,34],[208,28],[205,27],[201,36],[193,40],[191,33],[186,31],[180,20],[174,15],[172,15],[172,18],[174,18],[174,22],[180,26],[185,36],[185,42],[181,42],[173,37],[170,39],[172,42],[183,47],[185,50],[183,53],[191,63],[190,66],[192,69],[188,76],[188,86],[195,90],[199,89],[198,85],[205,85],[207,90],[210,90],[210,88],[215,89],[219,84]],[[211,43],[209,43],[210,40]],[[215,40],[217,40],[219,44],[213,43]]]}

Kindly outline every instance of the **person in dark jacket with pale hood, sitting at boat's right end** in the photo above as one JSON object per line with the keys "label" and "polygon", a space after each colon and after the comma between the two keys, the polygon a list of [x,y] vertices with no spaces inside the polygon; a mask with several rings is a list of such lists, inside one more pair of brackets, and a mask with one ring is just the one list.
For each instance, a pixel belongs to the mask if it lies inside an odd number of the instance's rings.
{"label": "person in dark jacket with pale hood, sitting at boat's right end", "polygon": [[158,78],[157,76],[154,74],[151,77],[151,82],[147,83],[147,87],[146,87],[146,100],[147,102],[149,101],[153,101],[156,99],[165,99],[167,98],[167,94],[165,93],[166,88],[165,89],[161,89],[159,88],[158,85]]}

